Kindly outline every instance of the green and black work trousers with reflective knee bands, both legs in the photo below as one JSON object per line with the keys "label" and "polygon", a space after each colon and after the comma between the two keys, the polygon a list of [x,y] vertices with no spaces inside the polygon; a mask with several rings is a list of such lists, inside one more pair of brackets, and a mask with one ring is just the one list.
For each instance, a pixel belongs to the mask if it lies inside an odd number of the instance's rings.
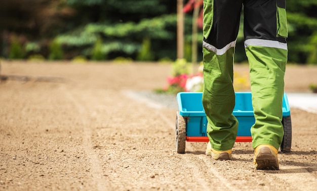
{"label": "green and black work trousers with reflective knee bands, both legs", "polygon": [[[282,1],[282,3],[281,3]],[[284,135],[282,101],[287,63],[285,0],[204,0],[204,91],[207,134],[216,150],[235,142],[238,122],[232,111],[233,55],[244,3],[245,49],[250,64],[255,124],[253,148],[279,148]],[[265,14],[265,17],[263,15]]]}

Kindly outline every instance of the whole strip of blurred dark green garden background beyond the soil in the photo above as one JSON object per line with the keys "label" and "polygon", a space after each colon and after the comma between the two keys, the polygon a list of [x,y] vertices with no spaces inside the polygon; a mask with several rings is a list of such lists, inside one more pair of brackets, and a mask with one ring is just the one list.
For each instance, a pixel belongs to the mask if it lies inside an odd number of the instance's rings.
{"label": "whole strip of blurred dark green garden background beyond the soil", "polygon": [[[200,62],[202,1],[0,0],[0,58],[175,61],[182,3],[182,57]],[[317,64],[317,0],[287,0],[287,19],[289,62]],[[237,63],[247,60],[242,26]]]}

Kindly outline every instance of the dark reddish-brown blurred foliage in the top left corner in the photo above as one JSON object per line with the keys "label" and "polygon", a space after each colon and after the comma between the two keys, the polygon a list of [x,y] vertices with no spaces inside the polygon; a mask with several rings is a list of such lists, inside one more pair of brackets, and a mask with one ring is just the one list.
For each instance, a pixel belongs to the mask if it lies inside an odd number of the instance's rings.
{"label": "dark reddish-brown blurred foliage in the top left corner", "polygon": [[64,1],[0,0],[0,56],[11,54],[13,36],[26,51],[24,58],[34,51],[47,53],[49,40],[66,29],[73,14]]}

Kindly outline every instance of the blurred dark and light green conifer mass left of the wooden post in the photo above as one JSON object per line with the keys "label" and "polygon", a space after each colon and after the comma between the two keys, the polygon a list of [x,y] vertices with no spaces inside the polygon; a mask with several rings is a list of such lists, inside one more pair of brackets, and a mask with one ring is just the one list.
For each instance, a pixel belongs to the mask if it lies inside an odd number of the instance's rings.
{"label": "blurred dark and light green conifer mass left of the wooden post", "polygon": [[[174,48],[168,57],[175,58],[176,4],[170,1],[67,1],[78,12],[77,27],[56,36],[59,43],[73,46],[78,54],[91,57],[90,49],[98,39],[100,51],[109,59],[128,56],[137,59],[144,37],[152,47],[152,59],[159,59],[164,49]],[[172,8],[172,9],[171,9]],[[82,14],[85,10],[85,14]],[[81,14],[78,14],[81,13]]]}

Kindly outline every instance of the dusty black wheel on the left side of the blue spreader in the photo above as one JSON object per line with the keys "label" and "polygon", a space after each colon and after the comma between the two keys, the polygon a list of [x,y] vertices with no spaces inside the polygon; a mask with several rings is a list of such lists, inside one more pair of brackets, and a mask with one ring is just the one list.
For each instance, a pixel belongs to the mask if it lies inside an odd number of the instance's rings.
{"label": "dusty black wheel on the left side of the blue spreader", "polygon": [[177,153],[185,153],[186,144],[186,118],[176,113],[176,150]]}

